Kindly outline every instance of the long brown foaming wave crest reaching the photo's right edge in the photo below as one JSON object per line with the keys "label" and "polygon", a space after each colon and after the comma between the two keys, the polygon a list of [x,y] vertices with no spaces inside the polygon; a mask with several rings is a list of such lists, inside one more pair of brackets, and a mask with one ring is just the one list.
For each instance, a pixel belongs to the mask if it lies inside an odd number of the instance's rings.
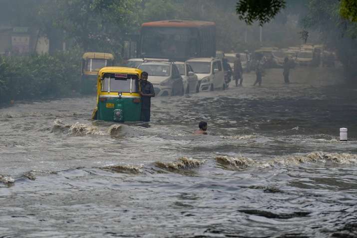
{"label": "long brown foaming wave crest reaching the photo's right edge", "polygon": [[274,166],[294,166],[309,162],[332,162],[338,164],[357,164],[357,154],[311,152],[307,155],[290,155],[268,160],[255,160],[244,156],[217,156],[216,161],[224,166],[238,169],[269,168]]}

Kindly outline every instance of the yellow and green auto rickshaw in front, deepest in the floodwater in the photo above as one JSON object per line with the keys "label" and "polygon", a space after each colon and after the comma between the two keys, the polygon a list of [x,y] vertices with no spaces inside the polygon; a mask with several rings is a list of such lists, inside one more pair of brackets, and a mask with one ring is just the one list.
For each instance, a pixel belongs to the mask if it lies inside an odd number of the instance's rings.
{"label": "yellow and green auto rickshaw in front, deepest in the floodwater", "polygon": [[141,70],[129,67],[103,67],[97,76],[97,106],[92,119],[139,121]]}

